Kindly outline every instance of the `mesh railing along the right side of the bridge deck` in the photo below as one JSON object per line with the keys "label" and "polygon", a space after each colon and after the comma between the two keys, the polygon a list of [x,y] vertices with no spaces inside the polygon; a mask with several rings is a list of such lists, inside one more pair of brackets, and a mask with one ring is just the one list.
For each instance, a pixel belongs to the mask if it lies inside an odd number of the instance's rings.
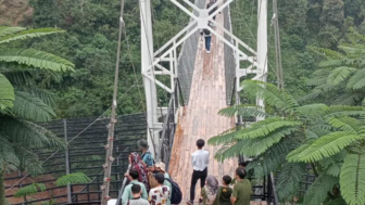
{"label": "mesh railing along the right side of the bridge deck", "polygon": [[[226,1],[226,0],[225,0]],[[230,20],[230,8],[229,5],[226,7],[223,10],[223,16],[224,16],[224,27],[231,31],[231,20]],[[228,34],[224,34],[224,38],[234,43],[234,40],[231,36]],[[235,84],[236,84],[236,67],[237,67],[237,59],[236,59],[236,52],[231,47],[229,47],[227,43],[224,46],[224,59],[225,59],[225,77],[226,77],[226,99],[227,99],[227,105],[232,105],[234,98],[235,98]]]}

